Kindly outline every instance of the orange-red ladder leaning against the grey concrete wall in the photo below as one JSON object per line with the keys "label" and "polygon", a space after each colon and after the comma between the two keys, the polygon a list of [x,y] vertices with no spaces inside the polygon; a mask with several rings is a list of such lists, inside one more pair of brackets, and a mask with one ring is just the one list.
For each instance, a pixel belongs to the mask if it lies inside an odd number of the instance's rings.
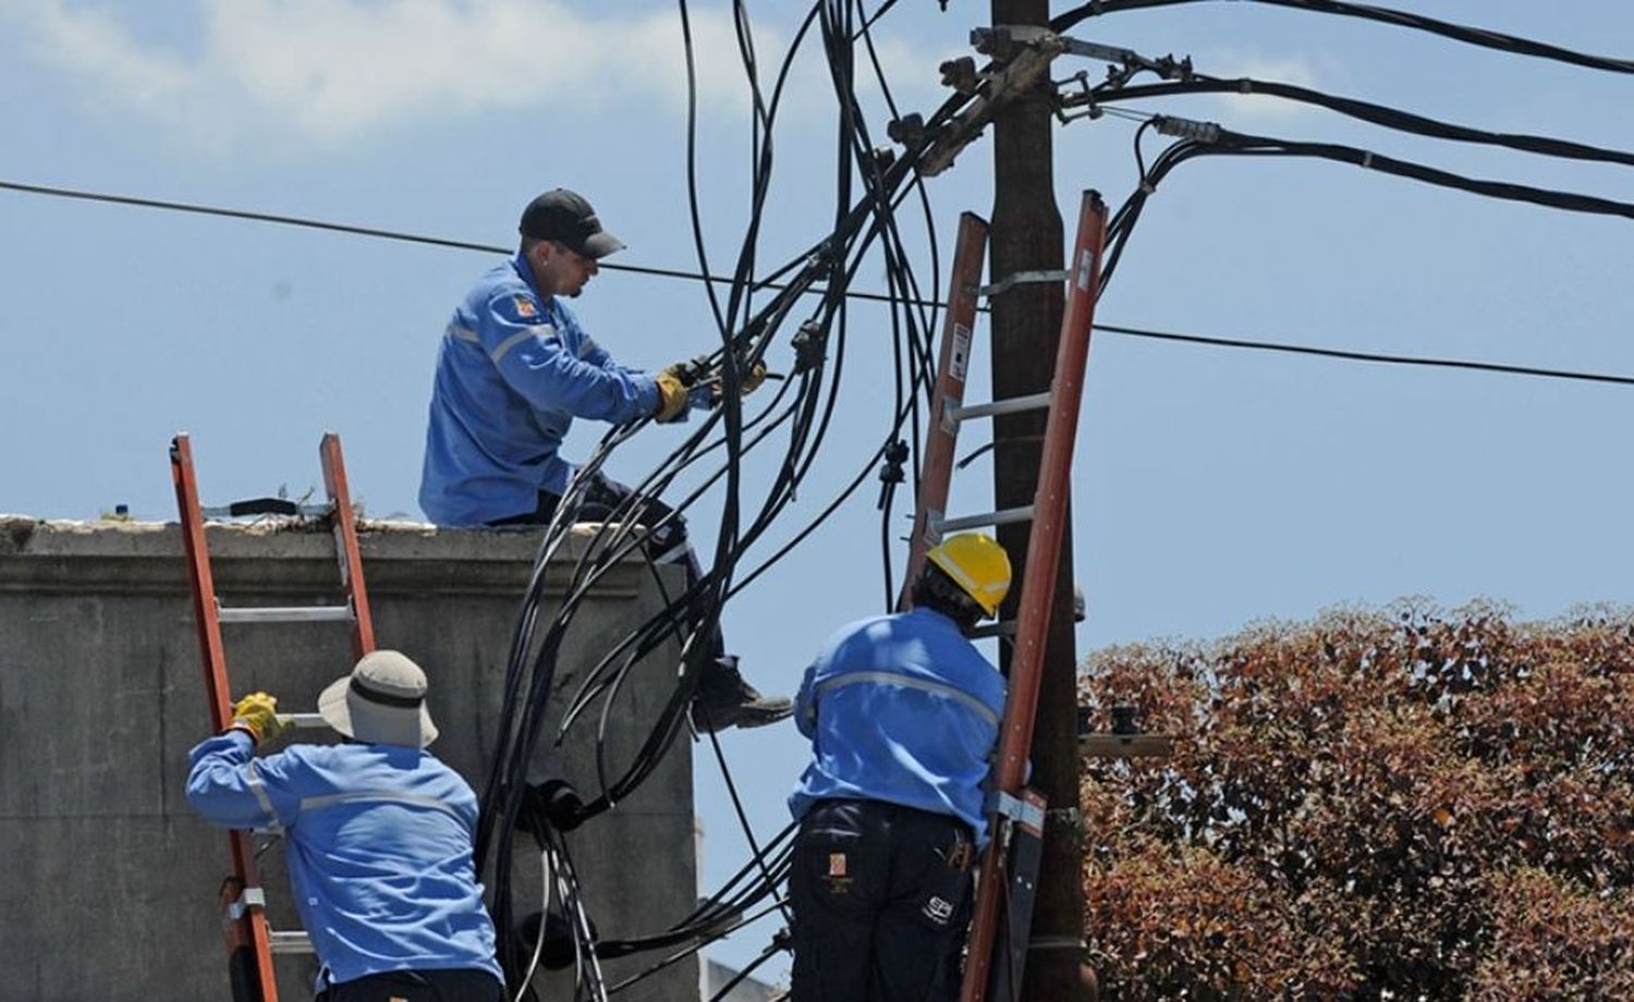
{"label": "orange-red ladder leaning against the grey concrete wall", "polygon": [[[283,499],[242,502],[227,508],[199,507],[198,481],[193,474],[193,446],[186,433],[170,443],[170,479],[176,487],[176,510],[181,515],[181,541],[188,556],[188,579],[193,584],[193,618],[198,623],[199,654],[204,660],[204,691],[209,696],[211,724],[221,732],[232,722],[232,688],[227,683],[227,657],[221,642],[222,623],[324,623],[351,624],[351,652],[363,657],[374,651],[374,621],[369,618],[368,592],[363,585],[363,556],[358,549],[358,525],[351,495],[346,490],[346,467],[340,458],[340,436],[330,432],[319,445],[324,461],[324,487],[328,505],[319,512],[330,518],[335,549],[340,557],[340,582],[346,605],[335,606],[242,606],[224,608],[216,597],[204,541],[206,515],[304,515],[306,508]],[[284,714],[279,714],[284,716]],[[322,727],[315,713],[288,714],[297,727]],[[273,977],[275,953],[310,953],[304,932],[273,932],[266,924],[266,892],[255,871],[250,832],[227,832],[232,850],[232,875],[222,883],[225,907],[222,925],[227,938],[227,971],[234,1002],[278,1002]]]}

